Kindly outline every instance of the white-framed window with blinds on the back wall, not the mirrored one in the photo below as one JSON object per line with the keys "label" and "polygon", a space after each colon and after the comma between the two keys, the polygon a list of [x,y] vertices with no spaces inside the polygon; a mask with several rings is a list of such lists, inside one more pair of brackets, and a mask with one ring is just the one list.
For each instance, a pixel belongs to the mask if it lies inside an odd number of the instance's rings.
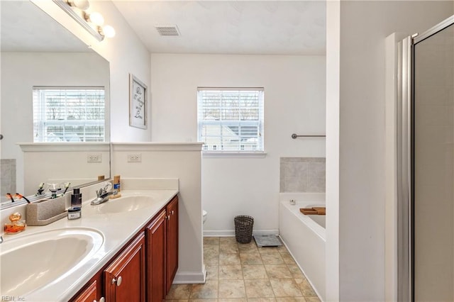
{"label": "white-framed window with blinds on the back wall, not the mirrored one", "polygon": [[[257,118],[255,119],[240,119],[242,108],[244,108],[244,99],[240,98],[241,93],[250,93],[253,92],[255,97],[257,97],[258,104],[257,106],[253,107],[253,110],[256,111]],[[224,94],[232,94],[238,93],[238,108],[232,107],[234,110],[237,110],[239,113],[238,119],[224,119],[223,116],[228,114],[226,110],[230,107],[226,105],[222,99]],[[218,94],[218,98],[221,100],[220,103],[216,106],[208,105],[204,103],[206,101],[206,94]],[[214,135],[211,135],[213,140],[216,140],[216,136],[219,136],[218,139],[221,140],[220,144],[207,144],[202,147],[202,152],[204,157],[265,157],[265,135],[264,135],[264,123],[265,123],[265,89],[263,87],[197,87],[197,140],[199,142],[207,142],[209,140],[210,135],[206,135],[206,126],[220,126],[219,133],[214,131]],[[231,97],[231,96],[230,96]],[[241,106],[243,104],[243,106]],[[218,111],[218,116],[206,118],[205,112],[206,110],[215,110]],[[257,135],[249,137],[250,135],[240,135],[241,127],[257,127]],[[229,135],[231,136],[233,133],[238,135],[238,140],[231,140],[226,142],[228,143],[228,147],[223,145],[224,138],[223,138],[223,129],[228,127]],[[237,128],[238,133],[231,129]],[[233,133],[232,133],[233,131]],[[248,141],[250,140],[250,141]],[[237,142],[238,141],[238,142]],[[244,142],[243,144],[241,142]],[[238,145],[236,145],[238,143]],[[218,150],[216,148],[218,145],[222,147]]]}

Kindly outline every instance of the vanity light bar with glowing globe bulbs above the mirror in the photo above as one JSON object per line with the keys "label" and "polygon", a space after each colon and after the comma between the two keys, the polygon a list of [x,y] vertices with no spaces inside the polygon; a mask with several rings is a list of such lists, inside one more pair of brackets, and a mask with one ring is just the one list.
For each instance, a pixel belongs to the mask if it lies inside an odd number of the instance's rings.
{"label": "vanity light bar with glowing globe bulbs above the mirror", "polygon": [[[60,9],[70,15],[77,23],[96,38],[102,41],[104,37],[112,38],[115,35],[115,30],[112,26],[104,26],[104,17],[101,13],[88,13],[90,4],[88,0],[52,0]],[[80,10],[82,16],[80,16]]]}

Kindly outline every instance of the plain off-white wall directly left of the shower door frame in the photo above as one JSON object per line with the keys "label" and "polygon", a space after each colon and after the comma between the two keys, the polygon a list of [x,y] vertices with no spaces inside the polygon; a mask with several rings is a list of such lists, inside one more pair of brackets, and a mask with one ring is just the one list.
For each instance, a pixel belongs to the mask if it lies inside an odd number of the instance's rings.
{"label": "plain off-white wall directly left of the shower door frame", "polygon": [[[332,106],[340,106],[339,130],[327,129],[327,135],[339,137],[339,162],[327,160],[328,173],[337,174],[338,180],[332,174],[326,192],[334,202],[339,198],[339,295],[327,296],[333,301],[384,301],[384,38],[394,32],[423,32],[450,16],[453,5],[451,1],[339,5],[340,32],[328,28],[327,34],[328,41],[340,39],[339,65],[328,65],[327,70],[331,74],[340,69],[339,103],[331,96],[327,101],[328,113],[336,111]],[[326,88],[336,89],[336,83],[329,82]],[[336,220],[336,215],[328,220]]]}

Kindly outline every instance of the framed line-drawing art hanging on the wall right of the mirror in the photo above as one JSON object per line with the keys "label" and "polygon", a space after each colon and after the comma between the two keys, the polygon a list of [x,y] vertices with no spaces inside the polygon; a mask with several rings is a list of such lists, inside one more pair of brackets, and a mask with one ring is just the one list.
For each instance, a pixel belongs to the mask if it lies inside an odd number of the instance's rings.
{"label": "framed line-drawing art hanging on the wall right of the mirror", "polygon": [[129,125],[146,129],[147,118],[147,85],[133,74],[129,74]]}

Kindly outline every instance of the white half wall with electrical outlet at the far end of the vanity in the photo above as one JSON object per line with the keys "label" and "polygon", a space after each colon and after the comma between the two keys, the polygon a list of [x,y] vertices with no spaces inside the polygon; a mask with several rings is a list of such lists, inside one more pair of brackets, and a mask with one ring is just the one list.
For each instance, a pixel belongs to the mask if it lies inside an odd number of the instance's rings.
{"label": "white half wall with electrical outlet at the far end of the vanity", "polygon": [[[122,178],[179,179],[179,268],[175,283],[204,282],[201,234],[201,144],[114,143],[112,174]],[[128,162],[140,153],[142,162]]]}

